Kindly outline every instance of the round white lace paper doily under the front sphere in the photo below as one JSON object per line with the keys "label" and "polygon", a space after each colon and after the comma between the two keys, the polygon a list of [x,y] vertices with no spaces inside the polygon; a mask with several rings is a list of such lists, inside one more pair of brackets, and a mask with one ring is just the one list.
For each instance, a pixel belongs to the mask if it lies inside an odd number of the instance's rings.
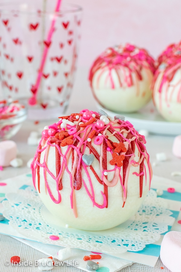
{"label": "round white lace paper doily under the front sphere", "polygon": [[[3,215],[9,220],[9,225],[27,239],[106,254],[140,251],[146,244],[158,241],[160,234],[166,232],[168,225],[173,225],[175,220],[167,209],[167,201],[157,198],[154,190],[149,191],[143,205],[131,219],[101,232],[49,224],[46,220],[49,212],[31,186],[20,189],[18,193],[8,193],[6,198],[2,202]],[[50,235],[59,236],[59,240],[50,240]]]}

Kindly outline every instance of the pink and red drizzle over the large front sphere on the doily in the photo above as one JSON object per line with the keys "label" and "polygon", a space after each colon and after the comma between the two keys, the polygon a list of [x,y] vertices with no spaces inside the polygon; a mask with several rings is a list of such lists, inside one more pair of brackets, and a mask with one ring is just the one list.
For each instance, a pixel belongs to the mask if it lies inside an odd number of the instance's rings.
{"label": "pink and red drizzle over the large front sphere on the doily", "polygon": [[[87,120],[84,119],[84,112],[88,112],[91,116],[92,114],[95,114],[96,117],[94,118],[94,122],[92,122],[92,116]],[[32,170],[32,176],[33,176],[33,184],[36,189],[35,185],[35,178],[37,174],[37,185],[38,185],[38,191],[40,193],[40,168],[43,169],[43,175],[44,175],[44,181],[46,189],[49,193],[49,196],[51,197],[52,201],[55,203],[61,202],[61,190],[63,188],[63,179],[62,176],[64,172],[66,171],[69,174],[70,178],[70,187],[71,187],[71,194],[70,194],[70,203],[71,208],[74,211],[75,217],[77,217],[77,211],[76,211],[76,202],[75,202],[75,192],[76,190],[80,190],[82,186],[85,187],[87,195],[90,197],[90,199],[93,202],[93,206],[97,206],[100,209],[107,208],[108,207],[108,187],[116,186],[116,184],[120,181],[121,186],[123,188],[123,206],[126,201],[127,196],[127,183],[128,183],[128,177],[129,177],[129,170],[130,167],[133,165],[135,167],[139,166],[139,173],[134,172],[133,174],[138,176],[140,180],[140,197],[142,196],[143,191],[143,176],[146,177],[146,167],[145,167],[145,161],[148,164],[149,169],[149,176],[150,176],[150,183],[151,183],[151,167],[149,162],[149,155],[145,149],[144,144],[146,143],[144,136],[141,136],[138,134],[138,132],[133,128],[133,125],[129,123],[129,121],[121,121],[121,120],[110,120],[109,124],[104,125],[103,128],[97,128],[96,122],[99,120],[100,116],[97,112],[92,112],[86,110],[82,110],[79,114],[79,119],[76,119],[75,116],[78,115],[77,113],[72,114],[70,116],[63,117],[58,123],[53,124],[52,126],[49,126],[49,129],[54,128],[55,129],[55,136],[47,136],[47,138],[43,138],[40,141],[40,144],[37,148],[35,157],[33,159],[33,162],[31,164],[31,170]],[[87,117],[86,117],[87,118]],[[69,121],[74,122],[77,121],[76,124],[72,124],[72,128],[76,128],[77,131],[73,134],[73,139],[70,140],[70,144],[67,144],[67,149],[65,151],[65,154],[62,154],[61,151],[61,144],[62,146],[65,146],[65,139],[69,139],[69,135],[66,131],[69,131],[69,128],[61,128],[62,120],[66,119],[67,123]],[[64,120],[65,121],[65,120]],[[81,125],[80,122],[83,124]],[[64,123],[65,124],[65,123]],[[85,125],[86,124],[86,125]],[[63,125],[63,124],[62,124]],[[84,126],[85,125],[85,126]],[[70,126],[70,123],[68,124],[68,127]],[[119,131],[115,130],[119,129]],[[62,132],[61,132],[62,131]],[[71,130],[72,131],[72,130]],[[110,135],[107,135],[106,132],[109,131],[111,134],[113,134],[119,142],[124,143],[124,146],[126,147],[126,152],[120,151],[119,153],[115,152],[115,147],[113,147],[113,142],[109,139]],[[65,136],[62,136],[62,133],[65,134]],[[103,142],[100,144],[101,151],[99,152],[93,147],[91,143],[94,142],[94,138],[98,135],[102,134]],[[123,135],[124,134],[124,135]],[[43,134],[45,135],[45,134]],[[48,135],[48,134],[47,134]],[[60,135],[60,136],[59,136]],[[45,136],[44,136],[45,137]],[[87,139],[91,137],[91,141],[87,141]],[[61,139],[59,139],[61,138]],[[90,140],[90,138],[89,138]],[[72,141],[72,143],[71,143]],[[137,146],[140,159],[139,161],[135,161],[135,146]],[[54,147],[56,149],[56,175],[54,175],[48,168],[47,160],[48,160],[48,154],[49,154],[49,148]],[[82,160],[82,155],[84,154],[85,148],[89,148],[89,153],[94,154],[94,157],[98,160],[100,163],[100,170],[101,170],[101,178],[94,170],[94,167],[92,165],[87,166],[84,161]],[[41,154],[45,151],[44,158],[42,160]],[[121,167],[119,167],[117,164],[114,165],[112,170],[107,170],[107,165],[109,164],[109,161],[107,161],[107,154],[108,153],[116,153],[121,157],[123,155],[123,161],[122,161],[122,168],[123,168],[123,176],[121,176]],[[71,157],[72,161],[72,170],[71,172],[68,169],[68,160]],[[62,160],[61,160],[62,158]],[[40,161],[42,163],[40,163]],[[61,163],[62,161],[62,163]],[[113,164],[112,164],[113,165]],[[88,168],[90,168],[91,172],[94,174],[97,182],[102,184],[103,190],[100,191],[101,195],[103,196],[103,203],[102,205],[96,203],[95,197],[94,197],[94,187],[91,182],[91,177],[88,172]],[[90,189],[87,188],[85,180],[82,178],[82,169],[84,169],[87,180],[90,185]],[[113,180],[107,180],[107,176],[104,175],[104,172],[114,172]],[[52,192],[49,187],[49,183],[47,181],[47,175],[50,175],[55,180],[56,190],[58,194],[58,198],[52,195]]]}

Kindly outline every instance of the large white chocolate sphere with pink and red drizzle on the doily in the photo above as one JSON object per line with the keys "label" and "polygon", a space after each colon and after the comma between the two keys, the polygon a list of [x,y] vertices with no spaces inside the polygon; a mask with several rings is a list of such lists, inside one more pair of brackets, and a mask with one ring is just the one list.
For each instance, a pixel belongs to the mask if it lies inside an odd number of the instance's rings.
{"label": "large white chocolate sphere with pink and red drizzle on the doily", "polygon": [[[61,146],[62,140],[59,141],[55,136],[42,139],[31,165],[34,185],[47,209],[56,216],[56,219],[59,219],[60,224],[68,224],[74,228],[84,230],[103,230],[125,222],[139,209],[148,193],[151,181],[149,156],[144,148],[144,139],[126,121],[114,120],[110,121],[109,124],[105,124],[101,129],[97,128],[96,123],[100,121],[99,115],[96,112],[94,114],[96,115],[95,121],[85,127],[79,127],[80,130],[74,134],[73,144]],[[79,121],[87,122],[85,119]],[[77,126],[77,121],[73,122]],[[60,125],[61,121],[57,125],[57,130],[59,130]],[[123,130],[122,125],[125,126]],[[120,128],[114,129],[115,126],[120,127],[123,134],[120,133]],[[109,131],[110,129],[113,131]],[[66,130],[69,131],[69,128]],[[96,131],[96,134],[93,137],[90,136],[91,142],[89,142],[87,138],[89,138],[92,131]],[[102,136],[98,136],[100,133]],[[80,138],[76,138],[78,135]],[[116,149],[115,145],[120,144],[120,141],[115,135],[124,142],[123,149],[119,153],[116,152],[119,150]],[[100,139],[103,138],[103,142],[99,143],[95,139],[96,137],[100,142]],[[126,140],[124,141],[122,137]],[[80,140],[80,146],[76,139]],[[60,145],[59,155],[57,155],[56,146],[53,143],[56,140],[59,141]],[[108,141],[115,144],[113,148],[108,146],[109,143],[107,145]],[[134,153],[130,149],[131,146],[132,148],[135,147]],[[77,147],[80,148],[80,153]],[[94,155],[92,156],[94,159],[91,165],[88,166],[81,156],[90,153]],[[118,166],[119,163],[113,164],[113,154],[116,154],[119,158],[122,156],[123,166]],[[131,155],[125,157],[125,154]],[[57,163],[59,156],[60,165]],[[88,160],[90,160],[90,157],[88,156]],[[76,189],[78,183],[74,179],[75,173],[80,175],[77,158],[81,162],[81,188]],[[124,162],[125,158],[129,158],[128,164]],[[106,167],[105,160],[107,161]],[[141,163],[142,161],[144,163]],[[40,169],[37,168],[37,165],[40,165]],[[62,171],[60,170],[57,179],[57,168],[60,169],[60,167]],[[123,171],[126,173],[125,176],[123,176]],[[107,173],[104,175],[104,172]],[[97,180],[96,175],[100,182]],[[143,180],[140,176],[143,177]],[[60,177],[62,182],[61,190],[58,187]],[[143,182],[142,188],[140,187],[140,180]],[[108,191],[107,198],[106,190]],[[125,194],[123,191],[125,191]],[[60,196],[61,201],[59,201]]]}

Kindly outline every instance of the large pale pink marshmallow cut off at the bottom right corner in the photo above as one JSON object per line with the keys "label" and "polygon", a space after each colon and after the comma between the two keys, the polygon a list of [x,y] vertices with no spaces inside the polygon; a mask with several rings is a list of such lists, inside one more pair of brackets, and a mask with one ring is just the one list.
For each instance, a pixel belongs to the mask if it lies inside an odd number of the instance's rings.
{"label": "large pale pink marshmallow cut off at the bottom right corner", "polygon": [[167,232],[161,243],[160,259],[172,272],[180,272],[181,232]]}

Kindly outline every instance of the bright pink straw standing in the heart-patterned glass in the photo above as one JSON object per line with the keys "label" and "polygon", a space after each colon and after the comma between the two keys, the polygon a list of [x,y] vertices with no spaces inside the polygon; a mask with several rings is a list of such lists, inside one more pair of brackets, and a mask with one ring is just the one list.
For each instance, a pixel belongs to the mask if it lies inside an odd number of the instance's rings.
{"label": "bright pink straw standing in the heart-patterned glass", "polygon": [[[57,1],[55,12],[59,11],[61,1],[62,0]],[[48,53],[48,48],[49,48],[49,46],[51,44],[51,38],[52,38],[52,34],[54,32],[55,23],[56,23],[56,14],[54,14],[54,18],[52,20],[52,24],[51,24],[50,29],[49,29],[48,37],[47,37],[46,41],[44,42],[45,43],[45,48],[43,50],[43,56],[42,56],[40,68],[38,70],[38,76],[37,76],[36,84],[34,86],[32,86],[32,88],[31,88],[31,91],[33,92],[33,96],[28,101],[29,105],[35,105],[37,103],[36,96],[37,96],[38,89],[40,87],[40,82],[41,82],[41,78],[42,78],[42,75],[43,75],[43,68],[45,66],[46,57],[47,57],[47,53]]]}

